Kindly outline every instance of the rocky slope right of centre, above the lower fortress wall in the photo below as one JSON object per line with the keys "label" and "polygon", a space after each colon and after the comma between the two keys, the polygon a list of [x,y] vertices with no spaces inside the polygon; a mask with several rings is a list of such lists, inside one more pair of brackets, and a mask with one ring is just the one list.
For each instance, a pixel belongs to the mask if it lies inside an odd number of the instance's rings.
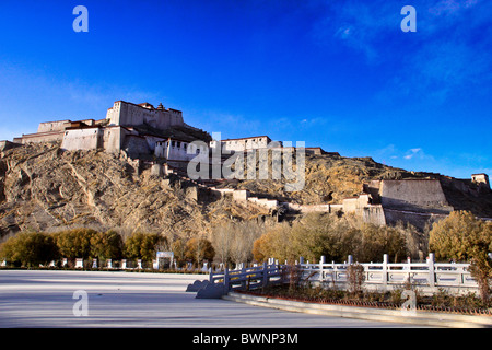
{"label": "rocky slope right of centre, above the lower fortress wall", "polygon": [[[295,163],[295,162],[294,162]],[[259,162],[257,162],[257,170]],[[270,177],[271,178],[271,177]],[[363,184],[382,179],[438,179],[449,206],[492,218],[492,191],[471,179],[458,179],[436,173],[409,172],[375,162],[371,158],[344,158],[336,153],[306,154],[305,186],[286,191],[281,180],[231,180],[223,187],[248,189],[256,196],[298,205],[341,203],[363,191]]]}

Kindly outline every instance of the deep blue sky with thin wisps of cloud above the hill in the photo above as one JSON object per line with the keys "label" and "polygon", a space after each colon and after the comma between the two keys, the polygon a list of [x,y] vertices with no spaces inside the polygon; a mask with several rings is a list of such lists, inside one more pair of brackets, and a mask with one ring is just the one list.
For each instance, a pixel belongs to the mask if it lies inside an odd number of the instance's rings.
{"label": "deep blue sky with thin wisps of cloud above the hill", "polygon": [[162,102],[223,138],[492,175],[491,20],[487,0],[2,0],[0,139]]}

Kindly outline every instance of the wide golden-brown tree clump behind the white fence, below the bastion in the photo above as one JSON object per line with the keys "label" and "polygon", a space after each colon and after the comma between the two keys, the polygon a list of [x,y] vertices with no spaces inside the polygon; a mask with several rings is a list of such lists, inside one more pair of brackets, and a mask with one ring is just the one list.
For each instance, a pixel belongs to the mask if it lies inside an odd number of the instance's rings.
{"label": "wide golden-brown tree clump behind the white fence, below the bastion", "polygon": [[353,222],[351,218],[327,213],[306,214],[292,226],[277,225],[254,244],[256,259],[274,257],[291,262],[301,256],[307,260],[325,256],[327,260],[343,261],[352,255],[368,261],[389,254],[398,259],[406,253],[401,229]]}

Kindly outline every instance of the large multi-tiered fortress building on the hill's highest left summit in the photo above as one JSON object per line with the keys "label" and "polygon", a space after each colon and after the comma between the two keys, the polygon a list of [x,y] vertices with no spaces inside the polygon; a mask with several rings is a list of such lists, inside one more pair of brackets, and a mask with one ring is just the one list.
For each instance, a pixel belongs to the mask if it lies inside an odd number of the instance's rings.
{"label": "large multi-tiered fortress building on the hill's highest left summit", "polygon": [[36,133],[13,141],[21,144],[57,141],[68,151],[103,149],[109,153],[126,151],[130,158],[189,161],[199,151],[188,144],[197,140],[208,143],[211,138],[187,125],[180,110],[164,108],[162,104],[155,108],[147,102],[117,101],[107,109],[105,119],[40,122]]}

